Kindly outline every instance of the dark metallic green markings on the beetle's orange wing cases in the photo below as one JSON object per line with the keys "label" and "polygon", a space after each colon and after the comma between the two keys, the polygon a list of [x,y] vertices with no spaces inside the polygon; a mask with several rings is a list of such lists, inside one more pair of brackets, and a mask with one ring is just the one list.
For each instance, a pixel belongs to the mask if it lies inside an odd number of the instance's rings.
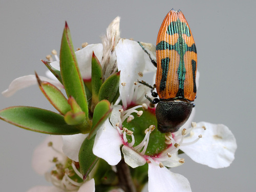
{"label": "dark metallic green markings on the beetle's orange wing cases", "polygon": [[[160,41],[156,46],[156,50],[175,50],[180,55],[180,63],[179,63],[178,71],[177,71],[178,79],[179,79],[179,90],[176,94],[176,98],[184,98],[184,81],[185,81],[185,75],[186,75],[186,68],[185,68],[185,64],[184,64],[184,55],[187,51],[197,53],[196,45],[195,45],[195,43],[193,43],[191,46],[188,46],[185,43],[185,40],[183,39],[182,34],[185,34],[186,36],[190,37],[191,33],[190,33],[190,30],[189,30],[188,26],[186,25],[186,23],[181,22],[179,18],[177,19],[177,21],[170,22],[170,25],[168,26],[166,33],[168,35],[174,35],[176,33],[179,34],[177,42],[174,45],[172,45],[166,41]],[[161,67],[163,65],[166,65],[166,62],[164,62],[162,64],[162,61],[163,61],[163,59],[161,60]],[[196,73],[196,62],[194,60],[192,61],[192,65],[193,65],[194,92],[196,92],[196,83],[195,83],[196,75],[194,75]],[[164,66],[164,67],[166,68],[166,66]],[[164,90],[164,88],[165,88],[165,87],[163,87],[164,85],[166,85],[166,77],[165,76],[167,76],[167,73],[166,73],[166,71],[163,70],[163,72],[162,72],[163,80],[161,79],[161,83],[160,83],[160,86],[162,85],[163,89],[161,89],[161,87],[160,87],[160,90]],[[165,83],[164,83],[164,81],[165,81]]]}

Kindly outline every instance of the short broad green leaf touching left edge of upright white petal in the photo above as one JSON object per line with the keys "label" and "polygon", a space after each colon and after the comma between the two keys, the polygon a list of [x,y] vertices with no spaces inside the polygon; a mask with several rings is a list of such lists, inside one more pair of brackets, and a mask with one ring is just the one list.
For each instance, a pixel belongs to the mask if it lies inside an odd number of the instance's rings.
{"label": "short broad green leaf touching left edge of upright white petal", "polygon": [[119,88],[120,71],[111,75],[104,81],[99,90],[99,101],[108,100],[110,103],[115,98]]}

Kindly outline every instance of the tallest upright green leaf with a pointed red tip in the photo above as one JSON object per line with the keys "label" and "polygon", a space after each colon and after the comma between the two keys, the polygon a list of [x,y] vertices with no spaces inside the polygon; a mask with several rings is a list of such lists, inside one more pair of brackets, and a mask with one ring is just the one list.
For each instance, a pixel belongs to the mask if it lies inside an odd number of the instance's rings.
{"label": "tallest upright green leaf with a pointed red tip", "polygon": [[66,22],[60,46],[60,73],[68,97],[72,96],[82,111],[88,114],[86,91],[78,68],[70,30]]}

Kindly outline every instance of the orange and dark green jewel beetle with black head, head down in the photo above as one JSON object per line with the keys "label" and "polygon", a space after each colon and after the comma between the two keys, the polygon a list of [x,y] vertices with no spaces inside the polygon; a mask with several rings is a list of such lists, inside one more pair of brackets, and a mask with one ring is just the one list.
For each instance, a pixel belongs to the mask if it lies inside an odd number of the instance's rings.
{"label": "orange and dark green jewel beetle with black head, head down", "polygon": [[[146,52],[143,46],[142,48]],[[150,101],[153,104],[158,103],[158,130],[162,133],[176,132],[184,125],[195,107],[191,102],[195,100],[197,92],[196,45],[180,10],[172,9],[165,16],[157,36],[156,58],[157,62],[150,57],[157,67],[156,84],[150,87],[152,96],[158,95],[159,99]],[[157,93],[153,91],[154,88]]]}

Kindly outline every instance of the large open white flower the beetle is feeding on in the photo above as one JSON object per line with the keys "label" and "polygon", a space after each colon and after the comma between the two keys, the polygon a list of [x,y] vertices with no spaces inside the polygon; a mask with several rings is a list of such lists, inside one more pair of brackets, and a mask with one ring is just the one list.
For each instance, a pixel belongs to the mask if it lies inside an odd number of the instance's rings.
{"label": "large open white flower the beetle is feeding on", "polygon": [[[121,160],[120,147],[125,162],[131,167],[137,167],[148,163],[148,191],[191,191],[188,180],[170,172],[167,167],[175,167],[184,163],[184,159],[178,157],[178,150],[182,150],[196,162],[214,168],[229,166],[234,159],[236,151],[236,139],[231,131],[224,125],[214,125],[201,122],[188,122],[178,132],[165,135],[165,143],[168,148],[156,155],[145,155],[150,135],[154,131],[154,126],[148,129],[145,127],[145,137],[135,146],[135,136],[132,131],[122,127],[125,119],[134,116],[132,113],[139,111],[142,103],[147,102],[142,97],[146,92],[143,86],[138,88],[134,81],[139,79],[138,73],[144,72],[145,60],[143,51],[136,42],[121,39],[116,47],[117,64],[120,74],[120,99],[122,106],[113,106],[110,121],[106,121],[97,132],[93,153],[103,158],[110,165],[116,165]],[[151,53],[152,54],[152,53]],[[131,107],[135,105],[135,107]],[[136,129],[136,128],[135,128]],[[127,141],[127,135],[132,137],[132,141]]]}

